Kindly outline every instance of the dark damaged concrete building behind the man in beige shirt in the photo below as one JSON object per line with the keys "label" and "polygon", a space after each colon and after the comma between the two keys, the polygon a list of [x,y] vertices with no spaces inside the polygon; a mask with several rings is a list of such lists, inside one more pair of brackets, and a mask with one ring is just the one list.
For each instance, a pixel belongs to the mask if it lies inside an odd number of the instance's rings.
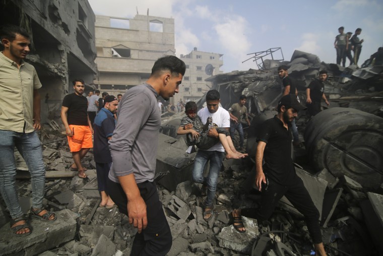
{"label": "dark damaged concrete building behind the man in beige shirt", "polygon": [[59,118],[62,98],[73,92],[72,80],[82,78],[93,89],[97,67],[95,16],[87,0],[2,1],[1,24],[24,27],[31,34],[26,62],[40,78],[41,121]]}

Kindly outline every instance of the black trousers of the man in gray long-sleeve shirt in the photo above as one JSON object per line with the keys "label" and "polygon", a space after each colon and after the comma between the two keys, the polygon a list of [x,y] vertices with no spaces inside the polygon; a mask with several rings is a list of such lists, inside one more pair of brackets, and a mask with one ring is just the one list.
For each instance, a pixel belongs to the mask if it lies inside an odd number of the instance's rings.
{"label": "black trousers of the man in gray long-sleeve shirt", "polygon": [[[158,197],[156,184],[145,181],[137,184],[137,186],[146,203],[148,226],[140,234],[136,233],[131,255],[166,255],[171,248],[173,239],[162,209],[162,202]],[[108,179],[107,192],[117,204],[120,213],[127,216],[127,198],[121,185]]]}

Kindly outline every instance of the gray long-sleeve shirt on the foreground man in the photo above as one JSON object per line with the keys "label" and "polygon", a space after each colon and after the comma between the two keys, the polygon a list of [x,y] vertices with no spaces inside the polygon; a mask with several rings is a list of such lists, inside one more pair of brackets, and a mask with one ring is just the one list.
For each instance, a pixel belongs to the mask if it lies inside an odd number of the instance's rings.
{"label": "gray long-sleeve shirt on the foreground man", "polygon": [[117,177],[134,173],[137,183],[153,181],[161,125],[157,96],[149,84],[135,86],[123,95],[109,141],[110,180],[119,183]]}

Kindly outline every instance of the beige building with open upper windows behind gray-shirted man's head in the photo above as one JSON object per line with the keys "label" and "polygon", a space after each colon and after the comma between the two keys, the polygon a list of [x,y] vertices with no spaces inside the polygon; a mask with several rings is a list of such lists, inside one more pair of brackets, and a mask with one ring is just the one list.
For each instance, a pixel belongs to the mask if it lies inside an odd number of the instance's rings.
{"label": "beige building with open upper windows behind gray-shirted man's head", "polygon": [[172,18],[96,15],[95,30],[98,74],[94,84],[110,95],[145,82],[158,58],[175,53]]}

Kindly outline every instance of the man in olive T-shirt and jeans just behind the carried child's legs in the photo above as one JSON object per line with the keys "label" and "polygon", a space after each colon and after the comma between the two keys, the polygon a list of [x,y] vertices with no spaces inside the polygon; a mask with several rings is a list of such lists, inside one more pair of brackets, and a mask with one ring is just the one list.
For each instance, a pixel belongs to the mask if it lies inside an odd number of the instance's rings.
{"label": "man in olive T-shirt and jeans just behind the carried child's legs", "polygon": [[229,109],[230,115],[230,137],[234,138],[235,130],[239,133],[239,151],[244,152],[245,148],[243,147],[244,137],[243,137],[243,127],[241,123],[241,118],[247,122],[248,126],[250,126],[250,121],[247,117],[247,109],[246,109],[246,95],[241,95],[239,97],[239,102],[231,105]]}

